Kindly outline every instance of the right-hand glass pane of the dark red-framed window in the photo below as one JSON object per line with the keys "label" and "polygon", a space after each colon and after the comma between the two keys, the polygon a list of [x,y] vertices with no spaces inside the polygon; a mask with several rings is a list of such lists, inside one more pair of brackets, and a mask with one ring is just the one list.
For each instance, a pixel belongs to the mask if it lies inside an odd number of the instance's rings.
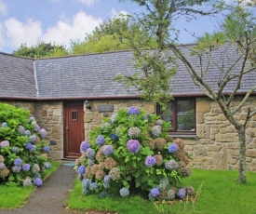
{"label": "right-hand glass pane of the dark red-framed window", "polygon": [[177,129],[195,131],[195,100],[177,101]]}

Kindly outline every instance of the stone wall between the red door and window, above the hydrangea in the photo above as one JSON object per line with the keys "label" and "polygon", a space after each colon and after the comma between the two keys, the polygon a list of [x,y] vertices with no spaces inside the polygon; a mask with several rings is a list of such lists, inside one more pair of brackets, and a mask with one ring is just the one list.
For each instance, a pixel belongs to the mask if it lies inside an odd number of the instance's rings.
{"label": "stone wall between the red door and window, above the hydrangea", "polygon": [[[144,100],[93,100],[89,101],[89,104],[92,106],[91,110],[87,110],[85,105],[85,139],[88,139],[90,130],[101,125],[104,116],[111,116],[120,109],[128,109],[131,106],[137,106],[149,114],[155,114],[155,105]],[[114,111],[99,113],[99,105],[114,105]]]}

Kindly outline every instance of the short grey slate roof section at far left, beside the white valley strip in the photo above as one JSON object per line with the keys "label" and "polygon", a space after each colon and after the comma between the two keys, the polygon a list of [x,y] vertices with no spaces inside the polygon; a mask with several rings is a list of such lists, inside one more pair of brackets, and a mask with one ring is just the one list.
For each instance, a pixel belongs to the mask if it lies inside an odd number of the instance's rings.
{"label": "short grey slate roof section at far left, beside the white valley strip", "polygon": [[0,52],[0,75],[0,98],[36,98],[34,60]]}

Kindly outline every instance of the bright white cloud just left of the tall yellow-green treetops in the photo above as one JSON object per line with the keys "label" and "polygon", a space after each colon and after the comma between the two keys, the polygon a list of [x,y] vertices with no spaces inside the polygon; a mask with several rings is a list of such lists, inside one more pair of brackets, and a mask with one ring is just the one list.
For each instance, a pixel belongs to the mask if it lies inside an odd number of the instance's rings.
{"label": "bright white cloud just left of the tall yellow-green treetops", "polygon": [[96,19],[84,12],[78,12],[71,23],[67,20],[59,20],[55,26],[48,28],[41,40],[69,45],[71,39],[84,40],[86,33],[91,33],[101,21],[100,18]]}

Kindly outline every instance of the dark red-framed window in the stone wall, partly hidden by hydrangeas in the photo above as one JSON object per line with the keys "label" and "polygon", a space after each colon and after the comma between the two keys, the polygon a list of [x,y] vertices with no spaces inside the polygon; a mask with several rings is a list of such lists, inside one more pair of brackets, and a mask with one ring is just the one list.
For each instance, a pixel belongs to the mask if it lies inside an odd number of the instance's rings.
{"label": "dark red-framed window in the stone wall, partly hidden by hydrangeas", "polygon": [[195,99],[175,99],[158,113],[170,122],[170,132],[195,133]]}

